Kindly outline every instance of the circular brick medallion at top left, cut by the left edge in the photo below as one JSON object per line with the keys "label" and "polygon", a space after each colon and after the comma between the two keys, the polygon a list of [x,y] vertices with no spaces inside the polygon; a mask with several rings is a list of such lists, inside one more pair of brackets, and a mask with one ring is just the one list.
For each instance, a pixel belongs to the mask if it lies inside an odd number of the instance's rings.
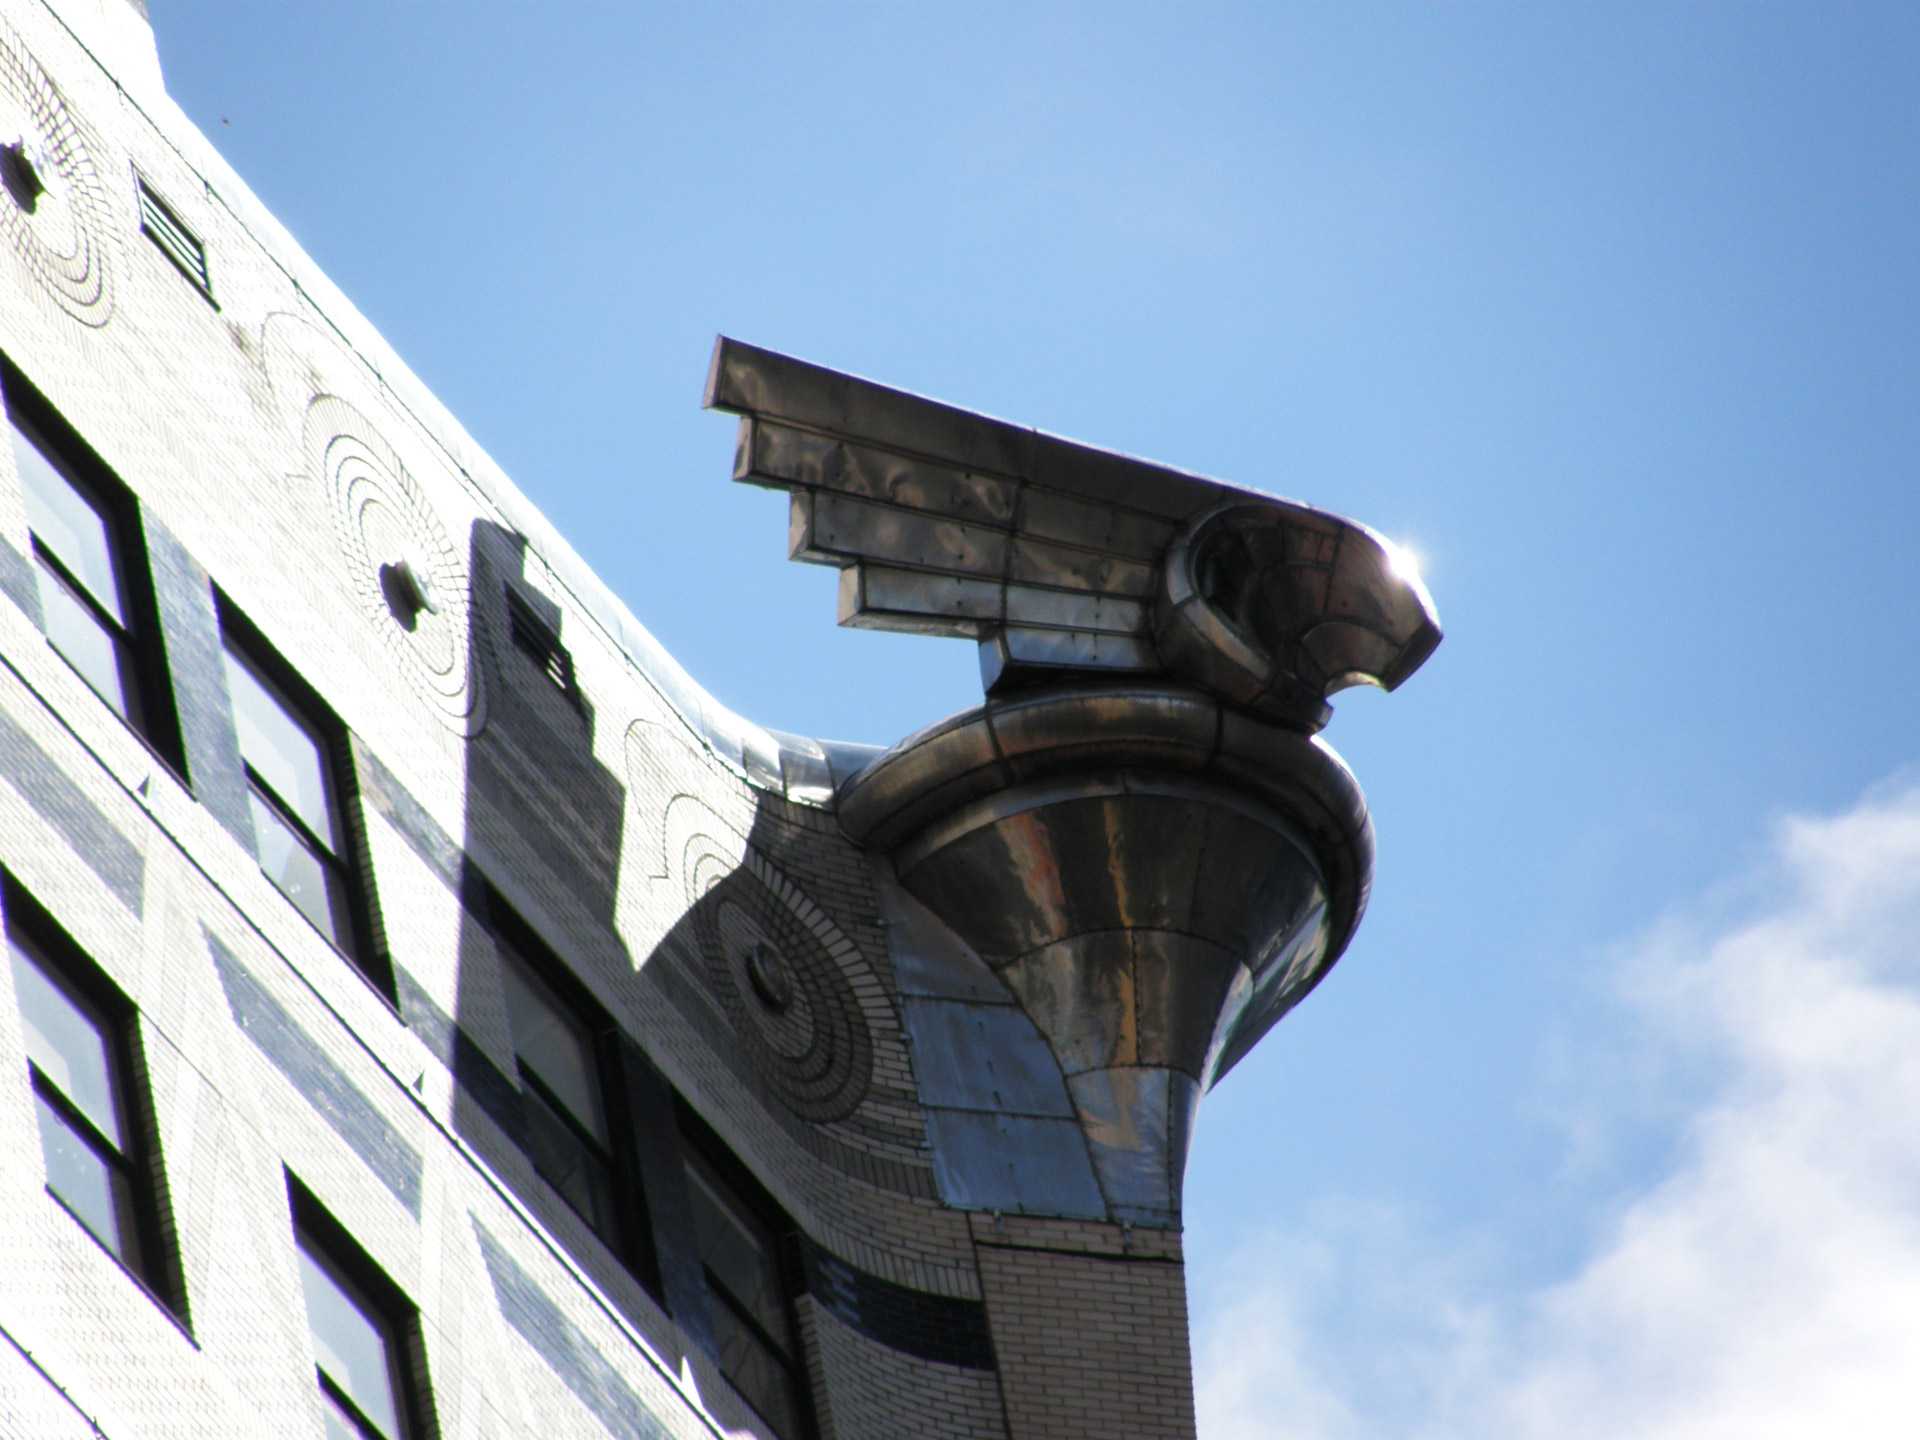
{"label": "circular brick medallion at top left, cut by the left edge", "polygon": [[60,86],[0,27],[0,234],[27,273],[81,324],[113,315],[113,232],[86,134]]}

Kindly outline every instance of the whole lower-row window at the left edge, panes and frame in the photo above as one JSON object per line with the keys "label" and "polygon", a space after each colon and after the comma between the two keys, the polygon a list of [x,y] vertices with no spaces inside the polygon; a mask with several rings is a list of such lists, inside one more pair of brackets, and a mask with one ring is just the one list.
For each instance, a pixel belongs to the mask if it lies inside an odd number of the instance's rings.
{"label": "whole lower-row window at the left edge, panes and frame", "polygon": [[33,897],[12,879],[4,893],[46,1188],[180,1315],[182,1286],[161,1244],[159,1200],[132,1102],[132,1006]]}

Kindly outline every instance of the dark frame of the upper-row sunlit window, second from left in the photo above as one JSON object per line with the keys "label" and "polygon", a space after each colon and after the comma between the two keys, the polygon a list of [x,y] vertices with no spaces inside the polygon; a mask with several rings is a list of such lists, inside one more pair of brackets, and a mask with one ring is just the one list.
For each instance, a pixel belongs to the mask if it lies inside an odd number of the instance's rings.
{"label": "dark frame of the upper-row sunlit window, second from left", "polygon": [[[388,1008],[397,1012],[394,962],[384,947],[378,945],[374,931],[372,874],[365,858],[359,783],[353,774],[353,747],[348,741],[348,728],[334,708],[321,699],[321,693],[261,634],[259,626],[219,589],[213,591],[213,607],[219,614],[223,647],[246,664],[255,680],[265,684],[269,699],[282,705],[298,728],[313,739],[321,755],[321,783],[326,789],[328,818],[340,837],[336,845],[328,845],[315,835],[298,808],[273,787],[273,781],[253,768],[253,762],[244,753],[240,755],[248,791],[294,831],[336,885],[334,895],[338,895],[338,908],[344,912],[336,916],[336,927],[346,933],[330,937],[292,897],[288,897],[288,904],[359,972],[374,993],[386,1000]],[[259,858],[259,835],[253,837],[253,845],[255,858]],[[273,883],[273,876],[267,876],[267,879]],[[275,887],[278,889],[278,885]]]}

